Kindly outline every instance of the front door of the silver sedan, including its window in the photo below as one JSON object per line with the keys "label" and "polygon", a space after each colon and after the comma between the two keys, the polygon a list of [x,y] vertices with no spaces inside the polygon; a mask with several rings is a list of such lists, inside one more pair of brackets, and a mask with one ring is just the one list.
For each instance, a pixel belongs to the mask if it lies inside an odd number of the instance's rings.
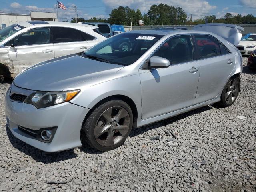
{"label": "front door of the silver sedan, including its window", "polygon": [[168,59],[170,66],[139,70],[142,119],[193,106],[200,70],[193,60],[190,35],[170,38],[152,56]]}

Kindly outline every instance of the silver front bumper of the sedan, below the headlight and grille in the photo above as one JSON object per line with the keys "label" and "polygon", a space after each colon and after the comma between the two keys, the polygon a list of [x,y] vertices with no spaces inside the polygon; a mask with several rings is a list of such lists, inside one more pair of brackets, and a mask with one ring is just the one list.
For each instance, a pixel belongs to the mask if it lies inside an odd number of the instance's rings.
{"label": "silver front bumper of the sedan, below the headlight and grille", "polygon": [[[90,109],[70,102],[37,109],[31,104],[13,102],[8,93],[5,99],[7,124],[16,138],[46,152],[58,152],[82,146],[80,131],[84,117]],[[18,126],[31,130],[50,127],[57,129],[52,141],[45,143],[18,129]]]}

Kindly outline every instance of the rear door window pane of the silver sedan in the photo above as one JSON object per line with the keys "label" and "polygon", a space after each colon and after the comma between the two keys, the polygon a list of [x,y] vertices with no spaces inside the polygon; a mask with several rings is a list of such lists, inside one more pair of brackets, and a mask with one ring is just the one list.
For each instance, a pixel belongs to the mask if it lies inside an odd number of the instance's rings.
{"label": "rear door window pane of the silver sedan", "polygon": [[199,59],[210,58],[221,54],[218,40],[208,35],[195,35]]}

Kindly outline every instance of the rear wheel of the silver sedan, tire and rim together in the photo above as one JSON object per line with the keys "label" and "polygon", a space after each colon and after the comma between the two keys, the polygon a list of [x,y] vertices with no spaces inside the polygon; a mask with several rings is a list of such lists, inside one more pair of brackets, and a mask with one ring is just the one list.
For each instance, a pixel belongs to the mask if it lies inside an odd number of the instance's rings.
{"label": "rear wheel of the silver sedan, tire and rim together", "polygon": [[218,102],[218,105],[222,108],[231,106],[236,101],[239,91],[239,78],[236,76],[231,77],[222,90],[221,100]]}

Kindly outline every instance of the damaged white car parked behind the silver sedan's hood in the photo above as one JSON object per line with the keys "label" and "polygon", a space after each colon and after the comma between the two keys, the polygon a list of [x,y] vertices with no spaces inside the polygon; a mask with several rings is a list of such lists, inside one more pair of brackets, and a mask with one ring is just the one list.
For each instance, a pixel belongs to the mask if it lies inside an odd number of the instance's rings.
{"label": "damaged white car parked behind the silver sedan's hood", "polygon": [[0,30],[0,63],[15,75],[33,64],[86,51],[106,39],[97,28],[67,22],[18,22]]}

